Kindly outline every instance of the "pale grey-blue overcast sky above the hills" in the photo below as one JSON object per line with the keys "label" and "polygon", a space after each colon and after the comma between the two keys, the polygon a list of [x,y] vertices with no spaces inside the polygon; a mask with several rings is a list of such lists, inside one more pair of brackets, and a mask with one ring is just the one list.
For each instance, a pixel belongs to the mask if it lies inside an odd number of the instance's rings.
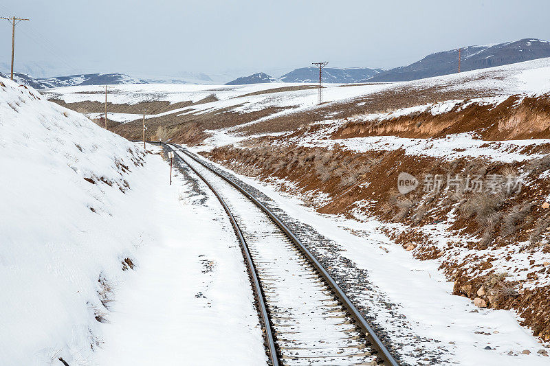
{"label": "pale grey-blue overcast sky above the hills", "polygon": [[[333,67],[408,65],[432,52],[520,38],[550,39],[550,1],[17,0],[16,71],[203,72],[272,76],[315,61]],[[0,68],[11,26],[0,23]]]}

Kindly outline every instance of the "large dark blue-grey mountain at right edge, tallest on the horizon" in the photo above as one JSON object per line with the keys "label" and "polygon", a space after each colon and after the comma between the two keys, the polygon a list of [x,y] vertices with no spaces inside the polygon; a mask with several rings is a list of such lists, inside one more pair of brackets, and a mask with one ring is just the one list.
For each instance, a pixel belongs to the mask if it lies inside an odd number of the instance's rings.
{"label": "large dark blue-grey mountain at right edge, tallest on the horizon", "polygon": [[[550,43],[534,38],[497,45],[468,46],[461,51],[461,71],[509,65],[544,57],[550,57]],[[458,65],[458,49],[452,49],[430,54],[408,66],[383,71],[369,79],[369,82],[408,81],[448,75],[456,73]]]}

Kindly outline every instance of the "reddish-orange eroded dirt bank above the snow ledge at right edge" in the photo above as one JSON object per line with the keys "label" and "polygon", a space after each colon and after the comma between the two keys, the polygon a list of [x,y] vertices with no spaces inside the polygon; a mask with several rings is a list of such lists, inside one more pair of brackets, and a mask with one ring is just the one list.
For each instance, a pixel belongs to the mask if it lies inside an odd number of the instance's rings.
{"label": "reddish-orange eroded dirt bank above the snow ledge at right edge", "polygon": [[467,102],[439,115],[426,111],[381,121],[348,122],[332,137],[429,138],[467,132],[476,132],[482,139],[492,141],[550,137],[549,95],[537,98],[513,95],[496,106],[476,103],[464,106]]}

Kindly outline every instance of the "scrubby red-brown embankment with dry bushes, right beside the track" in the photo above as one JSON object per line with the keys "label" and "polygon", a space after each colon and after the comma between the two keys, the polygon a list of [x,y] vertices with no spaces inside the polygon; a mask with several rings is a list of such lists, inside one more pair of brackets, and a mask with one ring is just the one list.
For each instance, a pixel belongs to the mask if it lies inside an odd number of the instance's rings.
{"label": "scrubby red-brown embankment with dry bushes, right beside the track", "polygon": [[[542,208],[550,194],[550,178],[538,178],[550,169],[550,157],[529,163],[443,161],[405,155],[404,150],[358,154],[338,146],[333,150],[305,148],[283,144],[276,137],[256,139],[247,148],[216,148],[207,155],[241,174],[293,183],[283,185],[283,190],[305,197],[305,202],[321,213],[375,216],[382,222],[404,223],[407,229],[386,232],[417,258],[438,258],[441,269],[455,281],[455,295],[477,298],[482,306],[516,309],[524,325],[550,340],[550,286],[537,285],[550,276],[550,263],[525,268],[518,265],[511,277],[504,268],[492,265],[503,252],[509,253],[506,255],[511,262],[518,253],[550,253],[550,244],[543,240],[550,236],[550,209]],[[455,194],[445,189],[427,193],[419,189],[400,194],[399,172],[417,177],[461,174],[480,179],[524,172],[531,183],[511,193]],[[322,194],[326,196],[319,199]],[[450,240],[445,247],[439,246],[429,234],[430,225],[437,222],[447,223],[448,233],[465,240]],[[472,249],[478,254],[461,255]],[[481,269],[487,271],[481,275]],[[515,276],[520,273],[526,276]]]}

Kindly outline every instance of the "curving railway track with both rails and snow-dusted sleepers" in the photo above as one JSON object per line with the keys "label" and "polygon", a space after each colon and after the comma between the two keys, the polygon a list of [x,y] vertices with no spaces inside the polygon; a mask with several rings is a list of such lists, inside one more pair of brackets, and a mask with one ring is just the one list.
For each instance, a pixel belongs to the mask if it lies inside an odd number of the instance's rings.
{"label": "curving railway track with both rails and snow-dusted sleepers", "polygon": [[267,207],[175,144],[210,187],[248,266],[271,365],[397,365],[325,268]]}

